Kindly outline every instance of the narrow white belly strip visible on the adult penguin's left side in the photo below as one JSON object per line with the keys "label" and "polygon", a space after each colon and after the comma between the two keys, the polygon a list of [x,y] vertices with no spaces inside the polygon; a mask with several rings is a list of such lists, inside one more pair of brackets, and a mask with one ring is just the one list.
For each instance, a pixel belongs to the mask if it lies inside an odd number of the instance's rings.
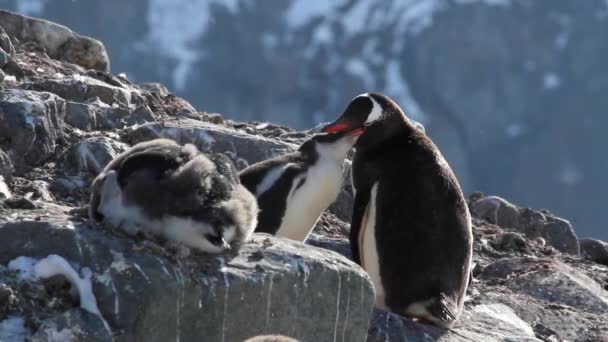
{"label": "narrow white belly strip visible on the adult penguin's left side", "polygon": [[376,246],[376,194],[378,183],[372,186],[370,201],[365,209],[359,230],[359,256],[361,265],[367,272],[376,289],[376,307],[386,309],[384,287],[380,278],[380,260]]}

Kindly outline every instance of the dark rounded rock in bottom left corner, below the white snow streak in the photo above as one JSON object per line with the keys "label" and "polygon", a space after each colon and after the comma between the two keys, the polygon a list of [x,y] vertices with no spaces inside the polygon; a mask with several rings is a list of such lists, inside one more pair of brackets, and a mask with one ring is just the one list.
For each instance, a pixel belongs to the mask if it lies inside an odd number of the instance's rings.
{"label": "dark rounded rock in bottom left corner, below the white snow streak", "polygon": [[99,316],[80,308],[74,308],[43,321],[31,341],[110,342],[114,339]]}

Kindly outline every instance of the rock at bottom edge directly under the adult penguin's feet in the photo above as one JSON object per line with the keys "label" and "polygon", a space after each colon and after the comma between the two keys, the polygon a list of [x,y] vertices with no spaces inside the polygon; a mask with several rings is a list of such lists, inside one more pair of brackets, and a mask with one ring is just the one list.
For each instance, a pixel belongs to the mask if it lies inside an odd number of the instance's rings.
{"label": "rock at bottom edge directly under the adult penguin's feet", "polygon": [[468,306],[451,330],[415,323],[398,315],[376,310],[367,342],[425,341],[540,341],[532,327],[503,304]]}

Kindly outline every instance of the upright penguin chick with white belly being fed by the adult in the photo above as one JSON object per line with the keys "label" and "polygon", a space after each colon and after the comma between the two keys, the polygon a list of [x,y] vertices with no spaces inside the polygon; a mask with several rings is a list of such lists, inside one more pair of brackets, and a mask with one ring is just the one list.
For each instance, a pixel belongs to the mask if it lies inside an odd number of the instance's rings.
{"label": "upright penguin chick with white belly being fed by the adult", "polygon": [[253,164],[239,173],[258,200],[256,232],[304,242],[338,197],[343,165],[359,132],[320,133],[296,152]]}

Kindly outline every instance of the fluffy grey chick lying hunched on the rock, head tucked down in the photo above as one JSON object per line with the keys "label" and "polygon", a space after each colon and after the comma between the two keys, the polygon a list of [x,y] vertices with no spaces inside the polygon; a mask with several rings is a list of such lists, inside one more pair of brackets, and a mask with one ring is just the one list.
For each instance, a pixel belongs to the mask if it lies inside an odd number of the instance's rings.
{"label": "fluffy grey chick lying hunched on the rock, head tucked down", "polygon": [[257,214],[227,157],[168,139],[139,143],[110,161],[93,181],[89,206],[97,224],[207,253],[242,244]]}

